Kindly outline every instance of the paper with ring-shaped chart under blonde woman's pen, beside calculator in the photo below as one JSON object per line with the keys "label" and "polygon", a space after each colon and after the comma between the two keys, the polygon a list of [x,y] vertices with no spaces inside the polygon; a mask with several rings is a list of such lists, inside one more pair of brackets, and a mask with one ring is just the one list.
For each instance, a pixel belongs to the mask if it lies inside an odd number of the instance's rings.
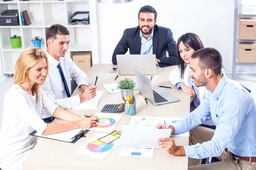
{"label": "paper with ring-shaped chart under blonde woman's pen, beside calculator", "polygon": [[122,115],[108,114],[108,113],[96,113],[95,116],[99,117],[99,123],[95,127],[91,127],[88,130],[101,131],[101,132],[113,132]]}

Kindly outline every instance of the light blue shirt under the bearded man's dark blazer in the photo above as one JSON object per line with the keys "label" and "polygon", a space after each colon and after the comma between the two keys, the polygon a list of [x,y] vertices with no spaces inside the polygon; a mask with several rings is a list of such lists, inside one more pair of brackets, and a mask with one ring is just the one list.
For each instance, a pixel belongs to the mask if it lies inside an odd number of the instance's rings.
{"label": "light blue shirt under the bearded man's dark blazer", "polygon": [[141,48],[140,48],[140,54],[153,54],[153,32],[154,29],[151,32],[151,35],[148,39],[145,39],[143,37],[142,32],[140,31],[140,38],[141,38]]}

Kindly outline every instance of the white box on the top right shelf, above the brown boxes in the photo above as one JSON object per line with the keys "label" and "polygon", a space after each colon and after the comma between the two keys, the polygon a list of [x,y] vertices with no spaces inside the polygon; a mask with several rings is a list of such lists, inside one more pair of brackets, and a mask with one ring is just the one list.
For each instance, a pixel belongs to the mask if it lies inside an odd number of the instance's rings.
{"label": "white box on the top right shelf, above the brown boxes", "polygon": [[243,15],[256,15],[256,0],[242,0],[240,13]]}

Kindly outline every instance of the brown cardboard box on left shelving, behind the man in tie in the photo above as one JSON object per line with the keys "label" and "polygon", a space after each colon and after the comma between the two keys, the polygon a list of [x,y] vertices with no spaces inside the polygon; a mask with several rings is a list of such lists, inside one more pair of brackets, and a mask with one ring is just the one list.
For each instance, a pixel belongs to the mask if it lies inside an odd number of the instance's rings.
{"label": "brown cardboard box on left shelving, behind the man in tie", "polygon": [[92,67],[92,53],[91,52],[77,52],[73,55],[73,62],[82,70],[87,73]]}

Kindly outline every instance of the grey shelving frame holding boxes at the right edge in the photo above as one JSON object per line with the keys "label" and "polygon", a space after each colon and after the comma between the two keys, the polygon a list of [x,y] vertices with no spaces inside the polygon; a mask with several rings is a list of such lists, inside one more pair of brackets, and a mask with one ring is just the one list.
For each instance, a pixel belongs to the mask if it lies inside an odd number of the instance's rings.
{"label": "grey shelving frame holding boxes at the right edge", "polygon": [[236,66],[242,65],[242,66],[256,66],[256,63],[240,63],[237,62],[236,56],[237,56],[237,43],[238,42],[256,42],[256,40],[240,40],[238,37],[238,19],[239,18],[256,18],[256,15],[243,15],[239,14],[239,0],[235,0],[235,11],[234,11],[234,39],[233,39],[233,62],[232,62],[232,79],[236,80]]}

